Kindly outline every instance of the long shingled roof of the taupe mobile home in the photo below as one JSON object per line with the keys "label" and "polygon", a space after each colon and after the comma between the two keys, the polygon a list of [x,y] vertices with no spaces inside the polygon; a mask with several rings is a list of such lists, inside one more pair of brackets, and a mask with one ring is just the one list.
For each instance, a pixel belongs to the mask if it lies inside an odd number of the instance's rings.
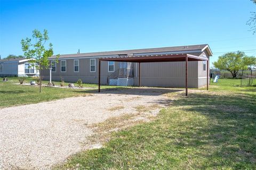
{"label": "long shingled roof of the taupe mobile home", "polygon": [[[96,53],[79,53],[79,54],[63,54],[60,58],[70,57],[92,57],[92,56],[109,56],[109,55],[127,55],[127,54],[140,54],[140,53],[160,53],[160,52],[182,52],[193,50],[204,50],[207,48],[209,55],[212,55],[211,49],[207,44],[191,45],[191,46],[177,46],[177,47],[162,47],[162,48],[146,48],[146,49],[130,49],[130,50],[118,50],[113,52],[96,52]],[[51,58],[55,58],[52,56]]]}

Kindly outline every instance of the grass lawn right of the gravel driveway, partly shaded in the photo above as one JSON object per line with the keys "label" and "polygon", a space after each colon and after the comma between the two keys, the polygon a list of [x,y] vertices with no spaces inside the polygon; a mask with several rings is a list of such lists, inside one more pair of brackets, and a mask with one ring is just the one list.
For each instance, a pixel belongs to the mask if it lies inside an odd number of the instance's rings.
{"label": "grass lawn right of the gravel driveway, partly shaded", "polygon": [[[212,83],[213,84],[213,83]],[[256,87],[220,79],[210,90],[169,94],[155,120],[111,134],[56,169],[256,169]]]}

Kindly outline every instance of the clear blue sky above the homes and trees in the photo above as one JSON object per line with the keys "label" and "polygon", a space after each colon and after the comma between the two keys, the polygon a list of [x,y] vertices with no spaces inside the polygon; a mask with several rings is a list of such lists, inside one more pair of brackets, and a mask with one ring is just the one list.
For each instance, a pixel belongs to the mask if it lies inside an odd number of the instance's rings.
{"label": "clear blue sky above the homes and trees", "polygon": [[54,54],[209,44],[212,66],[226,52],[256,56],[253,11],[250,0],[0,0],[0,55],[23,55],[21,39],[46,29]]}

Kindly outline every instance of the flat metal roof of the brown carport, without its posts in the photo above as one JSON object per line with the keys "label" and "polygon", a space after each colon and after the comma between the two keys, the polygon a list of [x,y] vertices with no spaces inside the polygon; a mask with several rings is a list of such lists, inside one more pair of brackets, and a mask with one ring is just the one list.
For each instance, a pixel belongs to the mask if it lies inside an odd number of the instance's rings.
{"label": "flat metal roof of the brown carport, without its posts", "polygon": [[186,57],[188,61],[207,61],[207,57],[199,57],[190,54],[157,54],[157,55],[119,55],[117,57],[102,57],[100,61],[114,61],[114,62],[185,62]]}

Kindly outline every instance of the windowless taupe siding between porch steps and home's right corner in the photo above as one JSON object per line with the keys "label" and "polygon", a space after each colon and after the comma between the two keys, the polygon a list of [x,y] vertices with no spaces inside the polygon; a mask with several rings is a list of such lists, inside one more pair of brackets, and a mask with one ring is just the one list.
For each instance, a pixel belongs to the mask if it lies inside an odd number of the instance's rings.
{"label": "windowless taupe siding between porch steps and home's right corner", "polygon": [[[141,86],[185,87],[185,62],[141,63]],[[136,68],[136,67],[135,67]],[[139,85],[139,64],[134,85]],[[188,63],[188,86],[197,88],[197,62]]]}

